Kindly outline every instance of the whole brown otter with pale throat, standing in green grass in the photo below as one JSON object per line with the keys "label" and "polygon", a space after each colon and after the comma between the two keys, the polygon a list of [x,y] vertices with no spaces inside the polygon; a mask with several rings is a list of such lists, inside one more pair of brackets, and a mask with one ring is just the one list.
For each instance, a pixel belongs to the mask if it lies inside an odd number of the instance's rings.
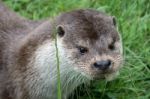
{"label": "whole brown otter with pale throat, standing in green grass", "polygon": [[33,21],[0,2],[0,99],[57,99],[55,43],[62,99],[90,80],[114,78],[121,67],[114,17],[79,9]]}

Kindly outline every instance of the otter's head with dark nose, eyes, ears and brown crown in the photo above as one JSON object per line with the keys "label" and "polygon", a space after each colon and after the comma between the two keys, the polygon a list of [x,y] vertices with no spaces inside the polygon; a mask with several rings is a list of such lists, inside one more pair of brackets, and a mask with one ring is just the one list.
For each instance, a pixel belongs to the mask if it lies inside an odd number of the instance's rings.
{"label": "otter's head with dark nose, eyes, ears and brown crown", "polygon": [[116,74],[122,63],[121,37],[113,17],[77,10],[59,17],[58,40],[71,66],[92,79]]}

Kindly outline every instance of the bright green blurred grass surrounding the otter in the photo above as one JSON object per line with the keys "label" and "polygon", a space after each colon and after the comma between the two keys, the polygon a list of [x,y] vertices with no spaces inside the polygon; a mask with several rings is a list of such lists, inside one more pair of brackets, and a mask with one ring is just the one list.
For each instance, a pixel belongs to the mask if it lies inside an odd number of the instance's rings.
{"label": "bright green blurred grass surrounding the otter", "polygon": [[[111,82],[94,82],[78,99],[150,99],[150,0],[4,0],[21,15],[37,20],[60,12],[93,8],[117,18],[125,64]],[[84,93],[84,91],[83,91]]]}

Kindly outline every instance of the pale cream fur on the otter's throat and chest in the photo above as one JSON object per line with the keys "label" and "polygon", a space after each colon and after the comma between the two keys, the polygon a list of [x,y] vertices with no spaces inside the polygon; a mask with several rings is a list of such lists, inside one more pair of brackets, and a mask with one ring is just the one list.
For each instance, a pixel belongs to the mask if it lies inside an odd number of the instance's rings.
{"label": "pale cream fur on the otter's throat and chest", "polygon": [[[61,42],[58,41],[60,76],[62,99],[80,84],[88,82],[80,72],[74,69],[73,64],[69,63]],[[31,66],[32,77],[27,79],[27,88],[31,98],[35,99],[56,99],[57,98],[57,61],[56,47],[54,41],[47,41],[39,46],[29,66]],[[31,79],[30,79],[31,78]]]}

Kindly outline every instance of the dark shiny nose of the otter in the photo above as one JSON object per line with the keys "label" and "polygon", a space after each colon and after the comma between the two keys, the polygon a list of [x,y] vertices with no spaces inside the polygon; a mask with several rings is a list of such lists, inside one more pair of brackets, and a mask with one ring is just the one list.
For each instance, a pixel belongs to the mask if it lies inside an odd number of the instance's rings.
{"label": "dark shiny nose of the otter", "polygon": [[93,66],[100,70],[106,70],[111,66],[111,61],[110,60],[97,61],[93,64]]}

